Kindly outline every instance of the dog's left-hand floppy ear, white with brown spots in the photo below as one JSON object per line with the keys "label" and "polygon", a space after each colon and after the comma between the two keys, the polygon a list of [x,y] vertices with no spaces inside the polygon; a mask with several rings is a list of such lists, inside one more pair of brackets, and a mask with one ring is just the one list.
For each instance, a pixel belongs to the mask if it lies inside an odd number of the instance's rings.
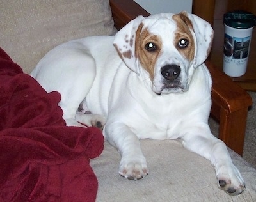
{"label": "dog's left-hand floppy ear, white with brown spots", "polygon": [[140,15],[136,17],[136,19],[131,20],[131,22],[116,33],[113,42],[125,65],[138,75],[140,75],[140,70],[135,56],[136,31],[144,19],[145,18]]}

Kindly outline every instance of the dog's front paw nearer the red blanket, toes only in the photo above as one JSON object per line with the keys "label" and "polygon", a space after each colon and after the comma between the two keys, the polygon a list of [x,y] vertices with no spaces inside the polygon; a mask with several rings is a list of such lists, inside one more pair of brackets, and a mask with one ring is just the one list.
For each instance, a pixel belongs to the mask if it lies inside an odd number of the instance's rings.
{"label": "dog's front paw nearer the red blanket, toes only", "polygon": [[140,180],[148,175],[147,162],[145,157],[140,157],[134,160],[124,160],[122,158],[119,166],[119,174],[129,180]]}

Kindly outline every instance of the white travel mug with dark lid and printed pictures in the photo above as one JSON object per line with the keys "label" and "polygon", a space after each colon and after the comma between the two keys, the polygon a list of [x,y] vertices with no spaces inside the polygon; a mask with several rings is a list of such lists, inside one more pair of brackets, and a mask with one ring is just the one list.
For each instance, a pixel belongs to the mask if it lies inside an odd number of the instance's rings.
{"label": "white travel mug with dark lid and printed pictures", "polygon": [[230,77],[240,77],[246,72],[256,16],[249,12],[234,11],[225,13],[223,21],[223,72]]}

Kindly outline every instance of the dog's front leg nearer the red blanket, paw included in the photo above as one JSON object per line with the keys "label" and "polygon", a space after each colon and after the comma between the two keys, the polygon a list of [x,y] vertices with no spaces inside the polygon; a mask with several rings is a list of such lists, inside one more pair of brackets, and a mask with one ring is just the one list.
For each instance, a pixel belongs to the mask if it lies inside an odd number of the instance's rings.
{"label": "dog's front leg nearer the red blanket, paw included", "polygon": [[147,162],[141,151],[140,140],[131,129],[122,124],[107,124],[106,139],[121,155],[119,174],[129,180],[139,180],[148,174]]}

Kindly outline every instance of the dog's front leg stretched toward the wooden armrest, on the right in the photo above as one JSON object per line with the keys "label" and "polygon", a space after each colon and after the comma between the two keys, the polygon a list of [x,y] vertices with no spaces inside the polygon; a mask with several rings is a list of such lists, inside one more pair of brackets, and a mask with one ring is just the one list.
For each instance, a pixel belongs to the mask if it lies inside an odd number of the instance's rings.
{"label": "dog's front leg stretched toward the wooden armrest, on the right", "polygon": [[185,148],[211,160],[220,189],[230,195],[241,194],[244,191],[244,180],[234,166],[227,146],[211,134],[208,126],[190,128],[190,132],[182,139]]}

